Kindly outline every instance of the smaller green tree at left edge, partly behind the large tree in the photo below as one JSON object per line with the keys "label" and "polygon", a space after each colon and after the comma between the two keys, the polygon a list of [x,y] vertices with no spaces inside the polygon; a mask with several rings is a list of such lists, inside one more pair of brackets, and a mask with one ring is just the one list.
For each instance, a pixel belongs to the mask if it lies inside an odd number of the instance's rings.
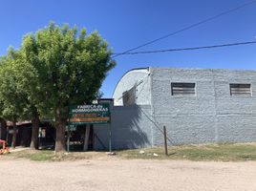
{"label": "smaller green tree at left edge, partly behind the large tree", "polygon": [[[28,95],[29,86],[26,79],[32,78],[31,68],[26,67],[22,53],[10,49],[1,59],[0,66],[0,101],[2,117],[13,123],[12,147],[16,144],[16,121],[18,119],[32,119],[31,147],[38,148],[39,114],[31,96]],[[26,75],[26,77],[24,77]],[[32,82],[31,82],[32,83]],[[27,89],[26,89],[27,88]]]}

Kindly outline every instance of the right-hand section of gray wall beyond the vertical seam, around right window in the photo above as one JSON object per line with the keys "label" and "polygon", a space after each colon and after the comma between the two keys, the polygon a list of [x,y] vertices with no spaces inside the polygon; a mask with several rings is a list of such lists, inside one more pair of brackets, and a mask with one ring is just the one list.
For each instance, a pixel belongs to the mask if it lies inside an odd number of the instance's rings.
{"label": "right-hand section of gray wall beyond the vertical seam, around right window", "polygon": [[[219,142],[256,141],[256,72],[214,71]],[[251,84],[252,96],[230,96],[229,83]]]}

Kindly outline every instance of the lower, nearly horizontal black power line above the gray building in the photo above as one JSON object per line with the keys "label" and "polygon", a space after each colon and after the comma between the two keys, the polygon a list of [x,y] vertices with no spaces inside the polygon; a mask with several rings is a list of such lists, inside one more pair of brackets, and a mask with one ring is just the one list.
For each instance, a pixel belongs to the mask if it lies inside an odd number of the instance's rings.
{"label": "lower, nearly horizontal black power line above the gray building", "polygon": [[[156,51],[141,51],[141,52],[132,52],[132,53],[122,53],[122,54],[141,54],[141,53],[167,53],[167,52],[181,52],[181,51],[195,51],[201,49],[216,49],[216,48],[223,48],[223,47],[233,47],[233,46],[241,46],[241,45],[249,45],[249,44],[256,44],[256,41],[247,41],[247,42],[237,42],[237,43],[229,43],[229,44],[220,44],[220,45],[210,45],[210,46],[203,46],[203,47],[187,47],[181,49],[165,49],[165,50],[156,50]],[[117,55],[119,53],[113,53]]]}

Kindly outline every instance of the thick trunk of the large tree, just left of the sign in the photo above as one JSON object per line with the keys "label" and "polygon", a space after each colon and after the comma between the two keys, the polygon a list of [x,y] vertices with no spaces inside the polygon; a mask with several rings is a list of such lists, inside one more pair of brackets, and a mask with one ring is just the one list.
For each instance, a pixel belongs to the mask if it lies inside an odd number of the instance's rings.
{"label": "thick trunk of the large tree, just left of the sign", "polygon": [[67,118],[61,117],[60,108],[56,111],[56,139],[55,153],[64,152],[66,150],[65,130]]}

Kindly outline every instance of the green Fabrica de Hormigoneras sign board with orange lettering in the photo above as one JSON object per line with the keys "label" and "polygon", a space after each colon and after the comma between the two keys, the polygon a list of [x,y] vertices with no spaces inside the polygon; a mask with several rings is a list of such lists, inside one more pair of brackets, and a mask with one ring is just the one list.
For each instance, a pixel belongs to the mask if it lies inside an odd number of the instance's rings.
{"label": "green Fabrica de Hormigoneras sign board with orange lettering", "polygon": [[70,124],[106,124],[110,123],[109,103],[75,105],[70,108]]}

